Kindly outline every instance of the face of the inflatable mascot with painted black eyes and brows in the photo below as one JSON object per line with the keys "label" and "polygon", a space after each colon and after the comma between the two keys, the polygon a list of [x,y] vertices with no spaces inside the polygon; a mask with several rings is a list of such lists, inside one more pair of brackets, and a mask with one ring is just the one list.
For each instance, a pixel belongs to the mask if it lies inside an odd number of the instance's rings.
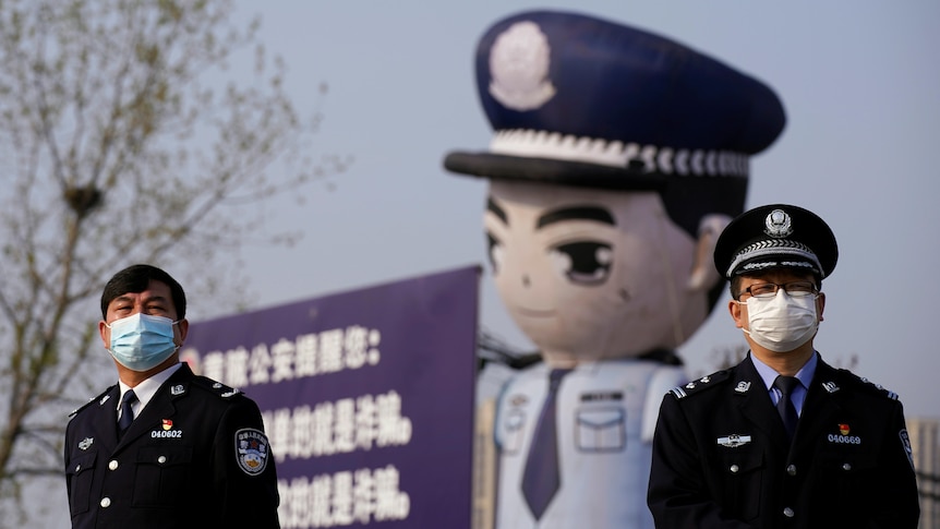
{"label": "face of the inflatable mascot with painted black eyes and brows", "polygon": [[673,348],[708,316],[696,240],[654,192],[494,180],[484,226],[503,302],[553,366]]}

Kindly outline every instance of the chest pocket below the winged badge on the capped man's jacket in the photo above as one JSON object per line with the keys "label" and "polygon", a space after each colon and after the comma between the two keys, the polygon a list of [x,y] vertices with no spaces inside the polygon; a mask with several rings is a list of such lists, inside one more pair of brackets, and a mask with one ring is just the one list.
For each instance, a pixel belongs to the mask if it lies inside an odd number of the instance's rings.
{"label": "chest pocket below the winged badge on the capped man's jacket", "polygon": [[759,452],[731,452],[719,458],[722,485],[722,505],[728,514],[742,520],[754,520],[760,515],[760,501],[764,478],[763,454]]}

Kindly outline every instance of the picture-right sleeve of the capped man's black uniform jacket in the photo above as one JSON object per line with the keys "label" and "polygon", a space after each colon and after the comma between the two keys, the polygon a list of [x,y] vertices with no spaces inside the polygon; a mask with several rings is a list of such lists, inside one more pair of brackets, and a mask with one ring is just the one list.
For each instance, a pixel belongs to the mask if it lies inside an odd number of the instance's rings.
{"label": "picture-right sleeve of the capped man's black uniform jacket", "polygon": [[883,501],[875,506],[875,527],[883,529],[916,529],[920,518],[917,478],[911,458],[911,441],[904,421],[904,410],[899,401],[885,431],[879,455],[878,497]]}

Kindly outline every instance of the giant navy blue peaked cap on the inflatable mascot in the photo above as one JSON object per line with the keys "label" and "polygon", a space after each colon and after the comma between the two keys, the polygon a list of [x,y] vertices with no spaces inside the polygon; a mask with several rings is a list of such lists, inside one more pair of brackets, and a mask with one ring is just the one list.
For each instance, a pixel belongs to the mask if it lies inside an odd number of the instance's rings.
{"label": "giant navy blue peaked cap on the inflatable mascot", "polygon": [[462,175],[618,190],[701,179],[732,190],[734,216],[749,156],[786,121],[760,81],[668,38],[578,13],[496,22],[478,43],[475,70],[495,135],[487,151],[445,157]]}

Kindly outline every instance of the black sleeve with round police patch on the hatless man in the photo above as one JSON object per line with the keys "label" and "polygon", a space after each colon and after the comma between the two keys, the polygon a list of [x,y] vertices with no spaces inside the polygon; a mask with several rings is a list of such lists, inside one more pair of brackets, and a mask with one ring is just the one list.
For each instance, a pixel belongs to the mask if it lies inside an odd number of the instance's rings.
{"label": "black sleeve with round police patch on the hatless man", "polygon": [[277,471],[261,412],[253,400],[237,398],[219,421],[213,448],[218,527],[278,529]]}

